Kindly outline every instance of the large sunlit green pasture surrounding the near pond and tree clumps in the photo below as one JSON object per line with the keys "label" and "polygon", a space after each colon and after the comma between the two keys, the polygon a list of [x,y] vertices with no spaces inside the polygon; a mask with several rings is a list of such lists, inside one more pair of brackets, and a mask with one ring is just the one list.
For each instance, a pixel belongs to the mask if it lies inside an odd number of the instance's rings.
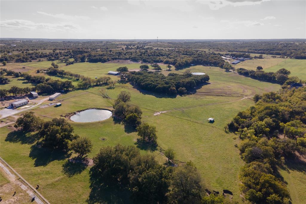
{"label": "large sunlit green pasture surrounding the near pond and tree clumps", "polygon": [[[119,66],[136,69],[140,64],[77,63],[64,68],[91,77],[100,73],[99,77]],[[192,66],[179,71],[163,70],[162,73],[182,73],[185,70],[205,72],[210,76],[210,81],[195,94],[176,97],[137,90],[129,83],[116,84],[114,89],[105,86],[94,87],[63,94],[52,101],[62,103],[58,108],[45,106],[50,103],[46,101],[33,111],[42,119],[50,120],[87,108],[112,110],[117,95],[123,90],[129,91],[132,95],[130,104],[140,106],[143,111],[142,121],[156,126],[158,149],[172,147],[176,152],[177,162],[184,163],[191,160],[195,163],[208,189],[215,191],[228,189],[233,192],[234,200],[241,201],[238,172],[243,161],[234,146],[240,141],[236,139],[235,134],[225,133],[223,127],[238,111],[254,104],[250,98],[254,94],[276,91],[280,85],[225,72],[218,67]],[[103,98],[101,93],[110,99]],[[160,111],[167,112],[154,115]],[[215,123],[207,123],[207,118],[210,117],[215,118]],[[69,120],[69,123],[74,127],[76,134],[86,136],[93,142],[89,158],[94,157],[103,146],[114,146],[118,143],[134,145],[138,138],[135,130],[119,124],[113,118],[93,123],[76,123]],[[41,186],[39,192],[50,202],[86,202],[90,193],[90,167],[85,168],[67,161],[75,155],[41,150],[35,146],[37,141],[35,136],[11,132],[7,127],[1,128],[0,135],[2,158],[29,183],[32,185],[39,183]],[[153,153],[157,160],[163,163],[166,157],[162,156],[158,149],[153,152],[142,149],[141,152]],[[116,194],[114,199],[120,197],[121,195]]]}

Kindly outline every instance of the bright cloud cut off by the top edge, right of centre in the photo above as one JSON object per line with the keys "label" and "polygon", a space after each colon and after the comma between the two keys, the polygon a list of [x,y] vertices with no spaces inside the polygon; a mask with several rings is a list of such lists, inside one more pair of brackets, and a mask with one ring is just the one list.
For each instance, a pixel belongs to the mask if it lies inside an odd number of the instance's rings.
{"label": "bright cloud cut off by the top edge, right of centre", "polygon": [[218,10],[225,6],[252,6],[261,4],[264,1],[270,1],[270,0],[226,0],[226,1],[207,1],[207,0],[197,0],[197,2],[208,5],[208,7],[211,10]]}

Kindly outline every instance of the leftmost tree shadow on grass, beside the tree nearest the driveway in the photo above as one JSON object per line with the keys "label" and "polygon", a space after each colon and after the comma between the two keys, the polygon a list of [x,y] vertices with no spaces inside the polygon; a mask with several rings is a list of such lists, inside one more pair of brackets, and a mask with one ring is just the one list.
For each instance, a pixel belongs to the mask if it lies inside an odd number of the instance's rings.
{"label": "leftmost tree shadow on grass, beside the tree nearest the driveway", "polygon": [[9,132],[5,138],[6,142],[20,142],[21,144],[33,144],[37,140],[39,140],[39,134],[17,130]]}

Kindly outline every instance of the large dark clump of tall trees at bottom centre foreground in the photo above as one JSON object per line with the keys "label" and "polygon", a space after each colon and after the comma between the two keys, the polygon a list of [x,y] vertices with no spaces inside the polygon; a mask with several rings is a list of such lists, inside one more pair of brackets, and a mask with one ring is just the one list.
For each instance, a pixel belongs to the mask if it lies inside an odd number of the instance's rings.
{"label": "large dark clump of tall trees at bottom centre foreground", "polygon": [[[223,203],[223,196],[205,196],[200,173],[189,161],[172,168],[134,146],[104,147],[93,158],[91,187],[129,189],[134,203]],[[208,199],[207,199],[208,198]],[[215,202],[220,201],[220,202]]]}

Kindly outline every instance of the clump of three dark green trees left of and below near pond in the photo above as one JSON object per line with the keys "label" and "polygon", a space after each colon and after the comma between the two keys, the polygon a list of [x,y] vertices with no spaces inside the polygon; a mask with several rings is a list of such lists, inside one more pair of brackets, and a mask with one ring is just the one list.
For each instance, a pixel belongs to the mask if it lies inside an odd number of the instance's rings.
{"label": "clump of three dark green trees left of and below near pond", "polygon": [[25,132],[38,131],[43,146],[63,151],[72,150],[79,154],[81,159],[92,149],[91,141],[73,134],[73,127],[63,118],[43,122],[30,111],[19,117],[14,127],[21,128]]}

